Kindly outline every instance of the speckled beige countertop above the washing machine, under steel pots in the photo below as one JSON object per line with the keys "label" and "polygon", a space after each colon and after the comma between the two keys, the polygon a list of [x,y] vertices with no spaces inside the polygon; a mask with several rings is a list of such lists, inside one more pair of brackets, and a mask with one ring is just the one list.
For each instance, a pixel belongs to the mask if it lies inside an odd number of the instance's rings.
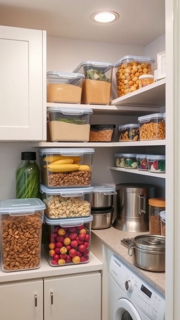
{"label": "speckled beige countertop above the washing machine, under steel pots", "polygon": [[131,269],[150,283],[160,293],[165,296],[165,272],[152,272],[146,271],[136,267],[132,262],[132,257],[128,254],[128,249],[121,244],[122,239],[132,238],[142,234],[149,233],[136,233],[125,232],[117,230],[113,227],[103,230],[92,230],[94,236],[108,247],[117,257],[124,261]]}

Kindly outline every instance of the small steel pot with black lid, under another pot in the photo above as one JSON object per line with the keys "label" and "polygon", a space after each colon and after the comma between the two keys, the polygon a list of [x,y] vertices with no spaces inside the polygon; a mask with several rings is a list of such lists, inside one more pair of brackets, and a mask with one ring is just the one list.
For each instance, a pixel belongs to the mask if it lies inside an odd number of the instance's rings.
{"label": "small steel pot with black lid, under another pot", "polygon": [[114,208],[111,207],[107,210],[91,211],[93,221],[91,229],[107,229],[112,226]]}

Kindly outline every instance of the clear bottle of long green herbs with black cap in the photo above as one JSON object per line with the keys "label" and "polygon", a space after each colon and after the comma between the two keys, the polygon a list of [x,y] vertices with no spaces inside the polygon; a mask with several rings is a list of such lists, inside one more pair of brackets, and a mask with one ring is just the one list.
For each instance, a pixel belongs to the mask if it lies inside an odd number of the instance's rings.
{"label": "clear bottle of long green herbs with black cap", "polygon": [[21,152],[21,163],[16,169],[16,199],[39,198],[39,180],[36,152]]}

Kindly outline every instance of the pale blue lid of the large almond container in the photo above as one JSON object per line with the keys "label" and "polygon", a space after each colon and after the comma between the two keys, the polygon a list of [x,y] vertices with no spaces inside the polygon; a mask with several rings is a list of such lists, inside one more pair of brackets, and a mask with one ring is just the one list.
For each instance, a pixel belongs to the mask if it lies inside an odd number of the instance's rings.
{"label": "pale blue lid of the large almond container", "polygon": [[23,213],[35,212],[45,209],[45,204],[38,198],[8,199],[0,201],[0,213]]}

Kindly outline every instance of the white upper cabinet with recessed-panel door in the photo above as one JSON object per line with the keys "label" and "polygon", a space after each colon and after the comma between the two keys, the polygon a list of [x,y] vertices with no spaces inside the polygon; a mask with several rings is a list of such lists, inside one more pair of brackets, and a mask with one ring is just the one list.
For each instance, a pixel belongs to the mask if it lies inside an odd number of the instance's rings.
{"label": "white upper cabinet with recessed-panel door", "polygon": [[46,31],[0,26],[0,70],[0,140],[45,139]]}

